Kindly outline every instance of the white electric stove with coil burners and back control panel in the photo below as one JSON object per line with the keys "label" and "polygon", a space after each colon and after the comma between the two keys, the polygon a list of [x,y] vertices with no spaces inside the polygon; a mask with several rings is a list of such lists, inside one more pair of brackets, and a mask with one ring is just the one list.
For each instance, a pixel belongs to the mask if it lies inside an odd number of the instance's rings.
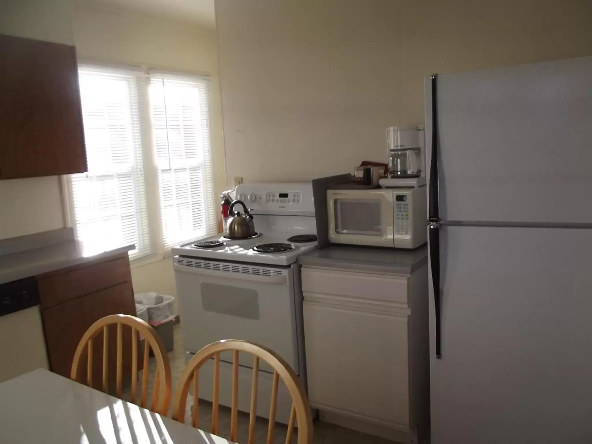
{"label": "white electric stove with coil burners and back control panel", "polygon": [[[312,185],[239,185],[236,197],[253,215],[256,236],[231,240],[217,234],[172,249],[187,359],[220,339],[249,340],[279,353],[306,384],[302,291],[296,261],[317,247]],[[220,403],[230,406],[230,353],[221,355],[221,361]],[[252,356],[241,355],[239,385],[245,388],[239,390],[239,409],[244,411],[250,409],[252,362]],[[207,400],[213,390],[212,373],[211,363],[200,373],[200,397]],[[260,416],[268,414],[272,378],[271,368],[262,365]],[[266,379],[269,384],[262,382]],[[291,398],[287,389],[280,387],[276,420],[287,423]]]}

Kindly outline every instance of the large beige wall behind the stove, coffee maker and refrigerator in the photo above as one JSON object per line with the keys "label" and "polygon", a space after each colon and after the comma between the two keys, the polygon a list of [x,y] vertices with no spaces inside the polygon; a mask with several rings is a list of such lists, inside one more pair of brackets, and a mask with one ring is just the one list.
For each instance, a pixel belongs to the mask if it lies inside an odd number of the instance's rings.
{"label": "large beige wall behind the stove, coffee maker and refrigerator", "polygon": [[385,159],[423,78],[592,54],[589,0],[216,0],[227,178],[307,180]]}

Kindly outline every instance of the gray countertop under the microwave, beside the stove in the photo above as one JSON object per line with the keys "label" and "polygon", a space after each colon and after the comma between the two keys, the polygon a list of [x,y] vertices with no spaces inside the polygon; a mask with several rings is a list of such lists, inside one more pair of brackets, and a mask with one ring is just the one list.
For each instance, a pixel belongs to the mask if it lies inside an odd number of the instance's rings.
{"label": "gray countertop under the microwave, beside the stove", "polygon": [[332,245],[298,256],[303,266],[410,275],[427,263],[427,245],[414,250]]}

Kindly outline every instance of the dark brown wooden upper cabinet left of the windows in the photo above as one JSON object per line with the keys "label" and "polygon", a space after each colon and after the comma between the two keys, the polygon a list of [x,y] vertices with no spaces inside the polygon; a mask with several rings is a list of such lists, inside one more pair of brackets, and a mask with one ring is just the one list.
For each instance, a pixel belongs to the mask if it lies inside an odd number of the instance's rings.
{"label": "dark brown wooden upper cabinet left of the windows", "polygon": [[0,35],[0,179],[86,170],[75,47]]}

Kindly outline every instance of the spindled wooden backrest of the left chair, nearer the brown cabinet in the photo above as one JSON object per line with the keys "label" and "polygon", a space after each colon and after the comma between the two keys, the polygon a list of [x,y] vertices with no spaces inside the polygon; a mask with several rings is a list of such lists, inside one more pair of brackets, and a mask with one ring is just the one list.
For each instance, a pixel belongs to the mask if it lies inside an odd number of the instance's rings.
{"label": "spindled wooden backrest of the left chair, nearer the brown cabinet", "polygon": [[[131,327],[131,402],[136,403],[138,387],[138,336],[144,337],[144,366],[142,371],[142,385],[140,395],[140,407],[146,407],[146,398],[148,390],[148,359],[150,349],[152,349],[156,358],[156,376],[155,385],[152,393],[152,404],[150,410],[166,416],[169,413],[170,392],[172,383],[170,381],[170,363],[169,356],[166,353],[165,346],[155,330],[146,321],[128,314],[111,314],[96,321],[86,330],[82,339],[78,343],[74,359],[72,361],[72,371],[70,379],[79,380],[78,370],[83,353],[86,349],[86,385],[92,387],[92,367],[93,367],[93,349],[94,339],[99,333],[103,333],[103,359],[102,359],[102,390],[107,393],[109,390],[109,372],[108,372],[108,349],[109,349],[109,327],[117,326],[117,372],[116,385],[117,397],[121,398],[121,382],[123,379],[123,326]],[[160,392],[160,379],[163,380],[164,396],[158,403]]]}

